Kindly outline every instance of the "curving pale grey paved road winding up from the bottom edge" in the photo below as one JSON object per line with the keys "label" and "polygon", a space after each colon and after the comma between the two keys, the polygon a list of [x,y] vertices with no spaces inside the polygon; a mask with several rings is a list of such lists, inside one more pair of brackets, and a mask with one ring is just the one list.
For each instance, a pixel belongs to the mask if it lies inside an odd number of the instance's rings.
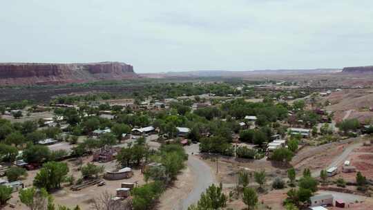
{"label": "curving pale grey paved road winding up from the bottom edge", "polygon": [[200,200],[200,195],[206,189],[216,182],[215,175],[211,172],[210,166],[203,162],[202,160],[196,158],[191,153],[198,153],[198,144],[191,144],[191,146],[186,146],[185,150],[189,154],[188,167],[191,169],[192,173],[195,175],[195,183],[192,191],[189,193],[187,198],[182,201],[180,209],[187,210],[191,204],[196,204]]}

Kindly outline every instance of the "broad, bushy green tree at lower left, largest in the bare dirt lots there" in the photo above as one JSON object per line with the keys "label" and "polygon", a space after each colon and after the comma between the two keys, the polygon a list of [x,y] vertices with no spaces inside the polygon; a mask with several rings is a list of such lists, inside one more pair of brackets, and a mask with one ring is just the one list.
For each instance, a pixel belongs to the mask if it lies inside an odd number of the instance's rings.
{"label": "broad, bushy green tree at lower left, largest in the bare dirt lots there", "polygon": [[65,162],[47,162],[35,176],[34,185],[39,188],[61,188],[61,182],[68,174],[68,165]]}

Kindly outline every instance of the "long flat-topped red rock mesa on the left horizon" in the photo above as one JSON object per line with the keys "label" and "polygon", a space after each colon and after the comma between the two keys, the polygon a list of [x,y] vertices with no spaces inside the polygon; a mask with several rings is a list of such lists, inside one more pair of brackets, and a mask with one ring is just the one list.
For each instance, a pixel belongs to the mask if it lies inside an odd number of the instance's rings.
{"label": "long flat-topped red rock mesa on the left horizon", "polygon": [[133,66],[119,62],[87,64],[0,64],[0,86],[67,84],[137,77],[138,75],[133,71]]}

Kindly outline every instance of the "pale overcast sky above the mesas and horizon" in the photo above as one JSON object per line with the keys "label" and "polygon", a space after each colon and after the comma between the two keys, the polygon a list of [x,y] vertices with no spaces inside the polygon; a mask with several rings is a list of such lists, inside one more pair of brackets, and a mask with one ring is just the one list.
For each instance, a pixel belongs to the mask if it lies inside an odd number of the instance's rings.
{"label": "pale overcast sky above the mesas and horizon", "polygon": [[372,0],[8,0],[0,61],[137,73],[373,64]]}

